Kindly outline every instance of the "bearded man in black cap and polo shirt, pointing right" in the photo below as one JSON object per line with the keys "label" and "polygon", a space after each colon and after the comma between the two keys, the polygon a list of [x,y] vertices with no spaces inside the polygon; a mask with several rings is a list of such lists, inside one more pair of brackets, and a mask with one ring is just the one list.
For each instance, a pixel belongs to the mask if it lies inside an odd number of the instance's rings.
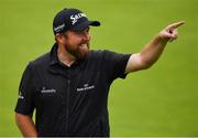
{"label": "bearded man in black cap and polo shirt, pointing right", "polygon": [[21,79],[15,121],[23,136],[109,137],[111,83],[153,65],[166,43],[177,39],[182,24],[162,30],[140,53],[119,54],[89,51],[89,26],[99,26],[99,21],[89,21],[77,9],[59,11],[53,22],[56,43],[30,62]]}

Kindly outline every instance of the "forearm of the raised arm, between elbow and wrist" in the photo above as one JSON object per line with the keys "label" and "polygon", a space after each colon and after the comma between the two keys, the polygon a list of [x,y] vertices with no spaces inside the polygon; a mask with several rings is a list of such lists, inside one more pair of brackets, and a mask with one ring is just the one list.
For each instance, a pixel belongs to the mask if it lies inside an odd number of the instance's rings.
{"label": "forearm of the raised arm, between elbow and wrist", "polygon": [[158,60],[167,42],[168,39],[163,40],[160,38],[160,35],[156,35],[143,47],[140,55],[146,67],[150,67]]}

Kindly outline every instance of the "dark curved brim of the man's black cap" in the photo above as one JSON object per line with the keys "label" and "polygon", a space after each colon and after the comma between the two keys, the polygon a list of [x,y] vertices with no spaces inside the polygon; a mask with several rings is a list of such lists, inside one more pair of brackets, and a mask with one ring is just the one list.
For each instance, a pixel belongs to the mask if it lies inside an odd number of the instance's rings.
{"label": "dark curved brim of the man's black cap", "polygon": [[73,26],[69,30],[73,30],[73,31],[84,31],[89,25],[91,25],[91,26],[99,26],[100,22],[99,21],[86,21],[86,22],[82,22],[80,24],[77,24],[77,25]]}

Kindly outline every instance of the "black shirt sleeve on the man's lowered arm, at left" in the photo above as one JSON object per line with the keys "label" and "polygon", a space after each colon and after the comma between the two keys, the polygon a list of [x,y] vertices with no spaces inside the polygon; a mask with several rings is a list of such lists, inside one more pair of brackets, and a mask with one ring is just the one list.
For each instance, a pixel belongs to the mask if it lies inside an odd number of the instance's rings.
{"label": "black shirt sleeve on the man's lowered arm, at left", "polygon": [[34,110],[34,73],[31,63],[26,66],[23,72],[20,87],[19,96],[15,106],[15,112],[23,115],[32,115]]}

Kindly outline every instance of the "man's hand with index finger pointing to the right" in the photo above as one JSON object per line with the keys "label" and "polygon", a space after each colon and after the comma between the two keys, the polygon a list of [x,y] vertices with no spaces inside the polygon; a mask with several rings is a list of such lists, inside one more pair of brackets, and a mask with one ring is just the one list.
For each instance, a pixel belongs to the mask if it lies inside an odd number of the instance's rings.
{"label": "man's hand with index finger pointing to the right", "polygon": [[169,24],[168,26],[166,26],[164,30],[162,30],[158,33],[158,38],[165,42],[167,42],[167,41],[172,42],[172,41],[176,40],[177,35],[178,35],[177,28],[183,24],[185,24],[185,21]]}

